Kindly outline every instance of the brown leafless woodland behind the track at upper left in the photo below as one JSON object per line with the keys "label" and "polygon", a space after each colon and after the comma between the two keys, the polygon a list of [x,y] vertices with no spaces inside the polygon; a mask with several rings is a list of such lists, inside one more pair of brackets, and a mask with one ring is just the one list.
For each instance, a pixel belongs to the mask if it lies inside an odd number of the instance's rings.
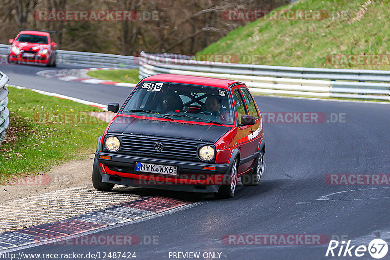
{"label": "brown leafless woodland behind the track at upper left", "polygon": [[[228,10],[271,10],[289,0],[2,0],[0,41],[25,27],[56,31],[61,49],[138,55],[196,53],[248,21],[226,19]],[[120,21],[31,19],[39,10],[126,10],[139,19]],[[151,13],[156,16],[151,16]],[[146,14],[146,15],[145,15]],[[133,17],[135,18],[135,17]],[[12,22],[16,20],[17,23]]]}

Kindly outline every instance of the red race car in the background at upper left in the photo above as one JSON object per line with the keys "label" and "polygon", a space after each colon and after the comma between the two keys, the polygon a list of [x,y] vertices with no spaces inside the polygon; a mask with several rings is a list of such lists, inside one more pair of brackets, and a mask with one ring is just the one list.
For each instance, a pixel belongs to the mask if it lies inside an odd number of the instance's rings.
{"label": "red race car in the background at upper left", "polygon": [[47,67],[56,66],[56,48],[50,37],[51,31],[22,30],[11,43],[8,53],[9,63],[37,63]]}

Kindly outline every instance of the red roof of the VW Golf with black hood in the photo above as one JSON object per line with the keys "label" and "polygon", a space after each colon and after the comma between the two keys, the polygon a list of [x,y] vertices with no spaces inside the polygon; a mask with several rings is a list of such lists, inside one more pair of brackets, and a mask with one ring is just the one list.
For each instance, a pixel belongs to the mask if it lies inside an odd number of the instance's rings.
{"label": "red roof of the VW Golf with black hood", "polygon": [[219,87],[228,89],[230,85],[234,83],[241,83],[240,81],[210,77],[199,77],[199,76],[187,76],[187,75],[175,75],[175,74],[158,74],[144,78],[142,81],[159,81],[159,82],[170,82],[180,84],[196,84],[201,86]]}

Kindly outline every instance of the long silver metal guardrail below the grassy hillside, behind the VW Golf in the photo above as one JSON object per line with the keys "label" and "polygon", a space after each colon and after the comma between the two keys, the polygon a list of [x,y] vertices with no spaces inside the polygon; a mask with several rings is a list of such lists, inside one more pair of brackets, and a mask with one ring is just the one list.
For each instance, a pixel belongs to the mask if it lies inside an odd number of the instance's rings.
{"label": "long silver metal guardrail below the grassy hillside, behind the VW Golf", "polygon": [[232,64],[145,52],[140,64],[140,79],[156,74],[195,75],[238,80],[259,94],[390,101],[390,71]]}

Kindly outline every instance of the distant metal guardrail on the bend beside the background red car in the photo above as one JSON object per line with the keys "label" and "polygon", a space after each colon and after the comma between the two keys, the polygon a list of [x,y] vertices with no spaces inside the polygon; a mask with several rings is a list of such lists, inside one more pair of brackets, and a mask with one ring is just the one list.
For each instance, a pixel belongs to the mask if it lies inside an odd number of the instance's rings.
{"label": "distant metal guardrail on the bend beside the background red car", "polygon": [[[0,54],[5,57],[2,61],[6,61],[9,47],[10,45],[0,44]],[[139,67],[139,57],[57,50],[56,63],[89,68],[104,67],[129,69]]]}

